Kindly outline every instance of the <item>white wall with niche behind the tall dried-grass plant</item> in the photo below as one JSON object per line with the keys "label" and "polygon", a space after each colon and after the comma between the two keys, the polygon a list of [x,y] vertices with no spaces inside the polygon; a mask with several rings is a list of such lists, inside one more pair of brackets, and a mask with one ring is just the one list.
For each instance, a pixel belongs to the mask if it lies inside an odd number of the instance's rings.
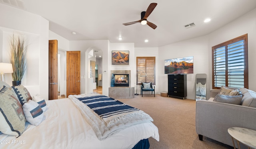
{"label": "white wall with niche behind the tall dried-grass plant", "polygon": [[[26,37],[28,63],[22,84],[29,90],[31,96],[40,94],[48,100],[48,20],[3,4],[0,4],[0,20],[0,59],[4,63],[10,63],[8,43],[13,34]],[[12,85],[11,74],[6,76],[6,82]]]}

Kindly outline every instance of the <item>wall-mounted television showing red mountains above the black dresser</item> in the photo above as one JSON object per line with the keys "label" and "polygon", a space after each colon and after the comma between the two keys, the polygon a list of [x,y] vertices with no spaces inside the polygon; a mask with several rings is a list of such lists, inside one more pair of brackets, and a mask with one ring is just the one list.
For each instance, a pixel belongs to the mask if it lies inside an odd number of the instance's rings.
{"label": "wall-mounted television showing red mountains above the black dresser", "polygon": [[164,74],[193,73],[193,57],[182,57],[164,60]]}

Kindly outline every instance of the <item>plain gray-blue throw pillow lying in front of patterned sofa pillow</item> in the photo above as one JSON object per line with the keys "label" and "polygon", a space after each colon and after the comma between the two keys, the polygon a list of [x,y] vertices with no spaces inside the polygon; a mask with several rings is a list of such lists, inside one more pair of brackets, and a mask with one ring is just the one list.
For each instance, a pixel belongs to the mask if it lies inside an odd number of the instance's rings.
{"label": "plain gray-blue throw pillow lying in front of patterned sofa pillow", "polygon": [[224,102],[227,104],[237,104],[240,105],[242,101],[242,95],[238,96],[227,96],[227,95],[217,95],[216,102]]}

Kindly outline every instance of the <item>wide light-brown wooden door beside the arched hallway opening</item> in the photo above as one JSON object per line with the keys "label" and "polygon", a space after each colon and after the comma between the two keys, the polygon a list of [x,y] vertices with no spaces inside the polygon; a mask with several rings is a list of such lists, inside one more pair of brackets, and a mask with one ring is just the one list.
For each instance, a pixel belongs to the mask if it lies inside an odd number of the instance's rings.
{"label": "wide light-brown wooden door beside the arched hallway opening", "polygon": [[67,97],[80,94],[80,51],[67,51]]}

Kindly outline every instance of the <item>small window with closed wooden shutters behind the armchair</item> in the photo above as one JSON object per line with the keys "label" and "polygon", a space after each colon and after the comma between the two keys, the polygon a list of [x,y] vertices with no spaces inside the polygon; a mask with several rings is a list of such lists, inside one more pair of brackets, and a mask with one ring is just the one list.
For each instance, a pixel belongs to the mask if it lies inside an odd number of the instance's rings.
{"label": "small window with closed wooden shutters behind the armchair", "polygon": [[[155,63],[156,57],[137,57],[137,85],[141,82],[155,82]],[[146,76],[140,76],[140,73],[146,73]]]}

